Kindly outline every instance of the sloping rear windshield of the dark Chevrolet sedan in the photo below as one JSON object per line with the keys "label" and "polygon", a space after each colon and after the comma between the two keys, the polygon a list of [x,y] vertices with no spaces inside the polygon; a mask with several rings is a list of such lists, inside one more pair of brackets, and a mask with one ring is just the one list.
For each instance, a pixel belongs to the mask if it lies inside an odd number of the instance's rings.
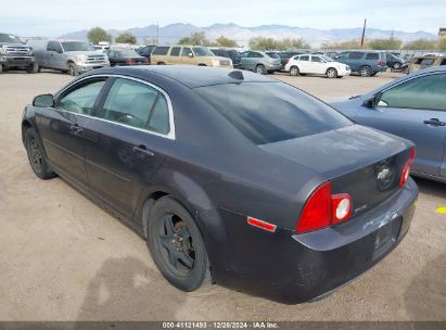
{"label": "sloping rear windshield of the dark Chevrolet sedan", "polygon": [[195,91],[255,144],[337,129],[352,122],[283,82],[225,84]]}

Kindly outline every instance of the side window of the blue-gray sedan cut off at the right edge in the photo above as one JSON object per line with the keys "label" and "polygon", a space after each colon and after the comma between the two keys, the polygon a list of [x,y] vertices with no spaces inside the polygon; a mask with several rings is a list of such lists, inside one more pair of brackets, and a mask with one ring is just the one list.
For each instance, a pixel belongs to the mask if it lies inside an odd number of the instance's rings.
{"label": "side window of the blue-gray sedan cut off at the right edge", "polygon": [[383,92],[378,106],[446,111],[446,74],[423,76]]}

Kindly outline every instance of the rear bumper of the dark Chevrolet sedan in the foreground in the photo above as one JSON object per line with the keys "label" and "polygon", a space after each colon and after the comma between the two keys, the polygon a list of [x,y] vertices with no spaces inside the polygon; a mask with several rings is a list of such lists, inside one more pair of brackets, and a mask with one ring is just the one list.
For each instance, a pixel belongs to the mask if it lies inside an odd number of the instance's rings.
{"label": "rear bumper of the dark Chevrolet sedan in the foreground", "polygon": [[263,231],[227,212],[231,246],[225,246],[230,249],[227,258],[220,251],[220,261],[213,263],[215,280],[286,304],[323,297],[398,245],[410,226],[417,195],[410,179],[403,190],[361,216],[303,234]]}

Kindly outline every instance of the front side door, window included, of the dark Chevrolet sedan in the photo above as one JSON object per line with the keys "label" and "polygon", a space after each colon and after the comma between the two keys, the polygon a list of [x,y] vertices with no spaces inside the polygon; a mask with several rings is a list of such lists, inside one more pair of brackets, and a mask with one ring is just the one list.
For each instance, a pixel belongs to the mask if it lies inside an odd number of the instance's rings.
{"label": "front side door, window included, of the dark Chevrolet sedan", "polygon": [[37,117],[39,134],[51,164],[69,178],[88,186],[84,130],[99,100],[105,78],[84,79],[62,91],[54,107]]}

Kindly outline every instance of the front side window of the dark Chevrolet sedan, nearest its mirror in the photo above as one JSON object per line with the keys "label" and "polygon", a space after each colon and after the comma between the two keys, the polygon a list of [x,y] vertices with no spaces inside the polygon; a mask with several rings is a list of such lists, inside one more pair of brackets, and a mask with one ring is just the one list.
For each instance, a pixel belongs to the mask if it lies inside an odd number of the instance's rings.
{"label": "front side window of the dark Chevrolet sedan, nearest its mirror", "polygon": [[62,94],[56,102],[56,109],[73,113],[91,115],[95,101],[105,85],[105,79],[93,80],[82,84],[74,90]]}

